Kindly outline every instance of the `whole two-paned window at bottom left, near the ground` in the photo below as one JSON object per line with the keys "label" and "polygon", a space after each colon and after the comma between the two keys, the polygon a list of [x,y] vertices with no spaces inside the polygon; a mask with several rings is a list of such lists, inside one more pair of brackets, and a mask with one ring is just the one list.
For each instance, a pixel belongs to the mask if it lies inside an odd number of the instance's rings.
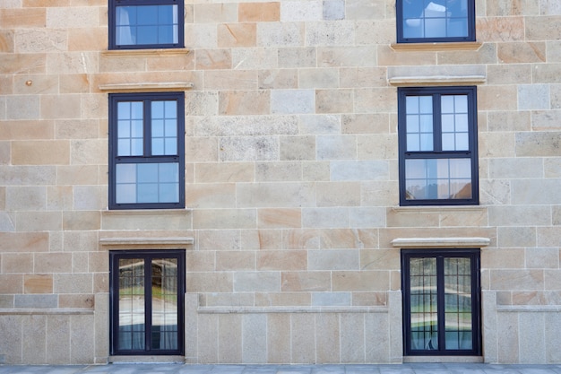
{"label": "whole two-paned window at bottom left, near the ground", "polygon": [[185,251],[110,251],[111,354],[184,354]]}

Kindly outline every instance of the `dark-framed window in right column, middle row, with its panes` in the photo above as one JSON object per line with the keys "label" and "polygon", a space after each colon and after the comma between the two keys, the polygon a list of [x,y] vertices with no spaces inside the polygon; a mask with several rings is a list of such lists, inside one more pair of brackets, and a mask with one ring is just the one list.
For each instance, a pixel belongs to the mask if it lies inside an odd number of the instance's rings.
{"label": "dark-framed window in right column, middle row, with its panes", "polygon": [[475,87],[398,89],[400,204],[479,204]]}

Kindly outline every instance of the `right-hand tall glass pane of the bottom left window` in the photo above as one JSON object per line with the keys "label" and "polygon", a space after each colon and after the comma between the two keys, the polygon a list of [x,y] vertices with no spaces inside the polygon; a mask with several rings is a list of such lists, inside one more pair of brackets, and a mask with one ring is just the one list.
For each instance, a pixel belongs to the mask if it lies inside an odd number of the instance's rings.
{"label": "right-hand tall glass pane of the bottom left window", "polygon": [[151,269],[151,346],[154,350],[177,349],[177,259],[154,258]]}

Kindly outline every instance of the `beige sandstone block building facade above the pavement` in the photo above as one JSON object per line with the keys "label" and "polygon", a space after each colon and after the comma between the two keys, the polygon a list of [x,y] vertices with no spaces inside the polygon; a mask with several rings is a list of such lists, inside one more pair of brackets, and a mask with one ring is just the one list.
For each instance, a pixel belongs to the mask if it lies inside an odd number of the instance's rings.
{"label": "beige sandstone block building facade above the pavement", "polygon": [[[475,0],[475,39],[427,42],[398,39],[395,0],[181,3],[173,46],[129,48],[126,4],[0,2],[0,363],[561,362],[557,0]],[[400,94],[450,87],[477,94],[470,199],[414,204]],[[176,206],[119,192],[120,104],[139,98],[180,104]],[[454,312],[471,352],[411,337],[448,312],[410,304],[417,253],[473,254],[473,309]],[[145,293],[125,287],[139,259]],[[150,317],[126,292],[150,292]],[[139,316],[150,347],[123,328]]]}

